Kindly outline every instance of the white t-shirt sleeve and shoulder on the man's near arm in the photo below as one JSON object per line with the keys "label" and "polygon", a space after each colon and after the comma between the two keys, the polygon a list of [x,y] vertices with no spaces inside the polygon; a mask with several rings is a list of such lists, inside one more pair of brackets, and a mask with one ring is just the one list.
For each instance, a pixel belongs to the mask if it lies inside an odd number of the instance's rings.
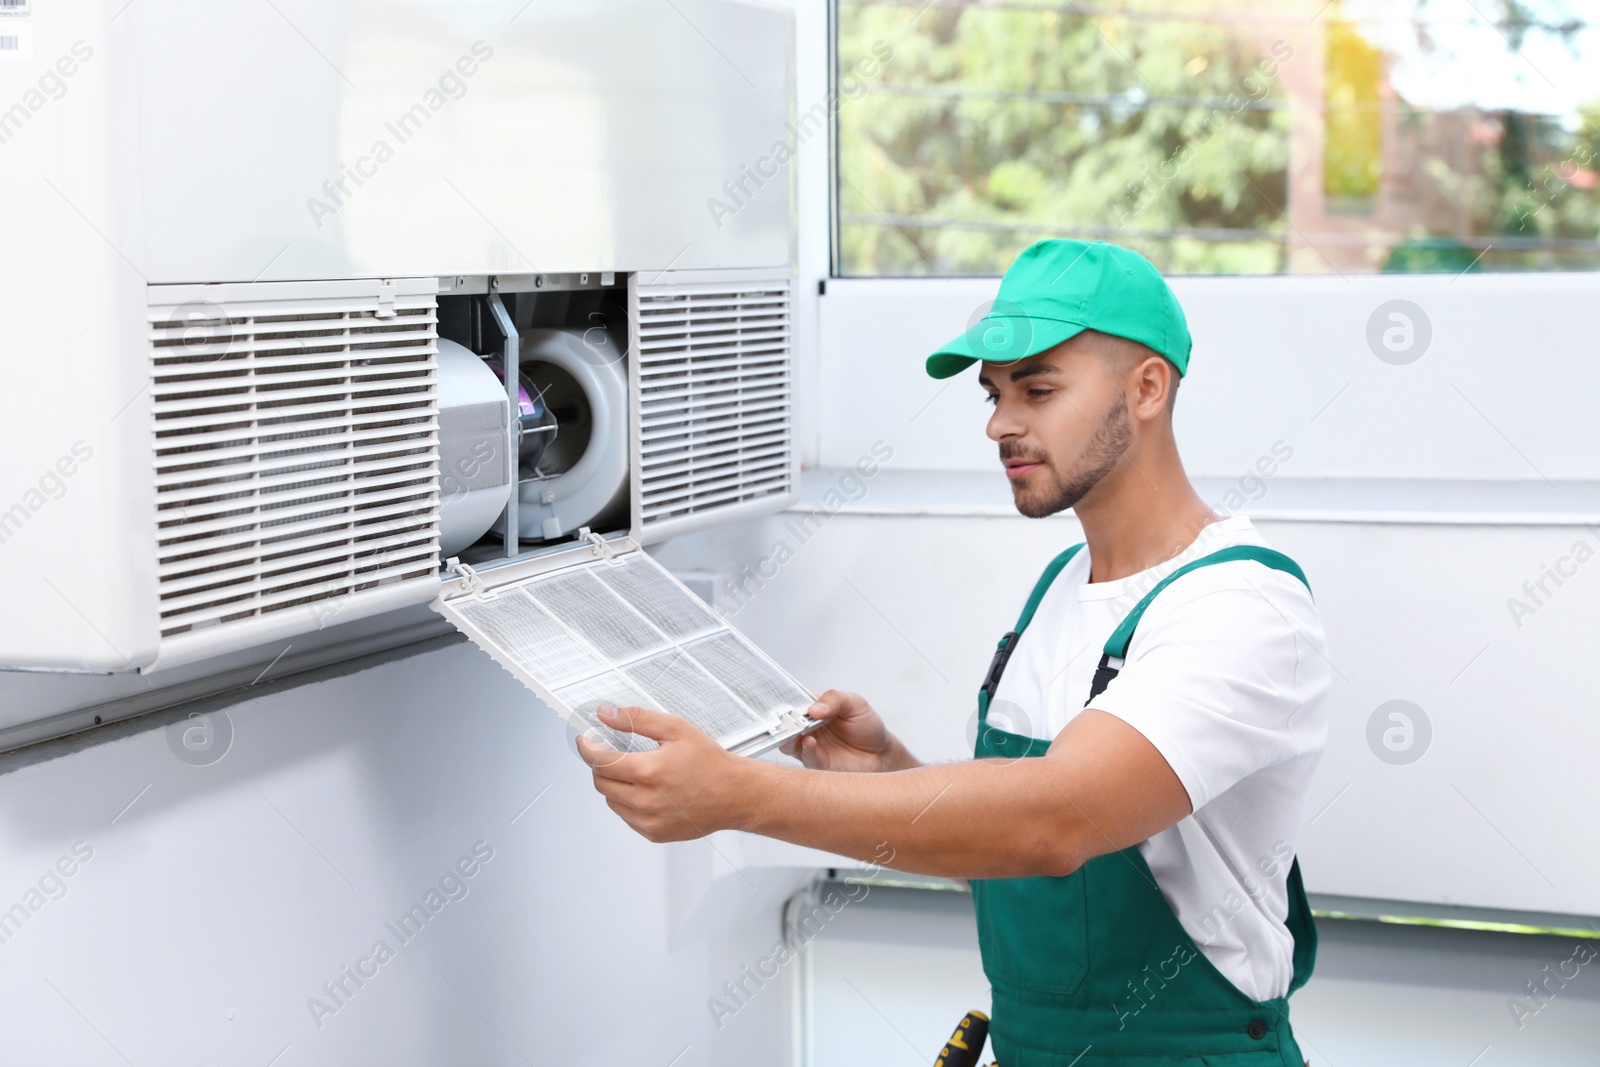
{"label": "white t-shirt sleeve and shoulder on the man's near arm", "polygon": [[1198,809],[1320,744],[1296,713],[1331,683],[1322,621],[1290,574],[1230,561],[1150,603],[1120,673],[1090,707],[1149,739]]}

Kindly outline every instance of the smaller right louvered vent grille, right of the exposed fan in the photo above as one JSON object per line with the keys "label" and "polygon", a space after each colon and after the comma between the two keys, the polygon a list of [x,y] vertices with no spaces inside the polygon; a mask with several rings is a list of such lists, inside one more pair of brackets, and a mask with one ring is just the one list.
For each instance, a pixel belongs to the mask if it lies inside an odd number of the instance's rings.
{"label": "smaller right louvered vent grille, right of the exposed fan", "polygon": [[667,277],[634,290],[635,522],[651,539],[794,491],[789,275]]}

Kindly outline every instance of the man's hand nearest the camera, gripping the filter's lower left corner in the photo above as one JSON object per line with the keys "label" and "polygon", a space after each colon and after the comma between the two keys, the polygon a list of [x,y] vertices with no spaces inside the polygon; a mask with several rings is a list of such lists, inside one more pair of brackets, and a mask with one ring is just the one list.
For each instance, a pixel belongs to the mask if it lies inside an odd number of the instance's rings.
{"label": "man's hand nearest the camera, gripping the filter's lower left corner", "polygon": [[602,707],[611,729],[654,739],[654,752],[616,752],[578,737],[578,755],[594,769],[611,811],[651,841],[686,841],[733,825],[750,797],[739,774],[747,763],[691,723],[642,707]]}

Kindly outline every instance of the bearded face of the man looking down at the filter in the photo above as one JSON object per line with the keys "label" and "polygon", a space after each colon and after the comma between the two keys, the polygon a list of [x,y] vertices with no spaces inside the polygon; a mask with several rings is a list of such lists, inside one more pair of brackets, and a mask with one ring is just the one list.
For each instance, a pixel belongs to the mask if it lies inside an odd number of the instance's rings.
{"label": "bearded face of the man looking down at the filter", "polygon": [[995,406],[987,434],[1029,518],[1077,504],[1128,451],[1133,427],[1114,365],[1088,334],[1016,363],[979,365]]}

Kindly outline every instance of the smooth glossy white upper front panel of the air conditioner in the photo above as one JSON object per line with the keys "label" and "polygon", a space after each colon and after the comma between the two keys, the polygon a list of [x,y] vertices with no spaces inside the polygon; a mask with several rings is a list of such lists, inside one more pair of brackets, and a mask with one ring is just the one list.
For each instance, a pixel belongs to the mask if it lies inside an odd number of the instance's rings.
{"label": "smooth glossy white upper front panel of the air conditioner", "polygon": [[86,6],[158,283],[786,262],[773,146],[827,136],[781,5]]}

